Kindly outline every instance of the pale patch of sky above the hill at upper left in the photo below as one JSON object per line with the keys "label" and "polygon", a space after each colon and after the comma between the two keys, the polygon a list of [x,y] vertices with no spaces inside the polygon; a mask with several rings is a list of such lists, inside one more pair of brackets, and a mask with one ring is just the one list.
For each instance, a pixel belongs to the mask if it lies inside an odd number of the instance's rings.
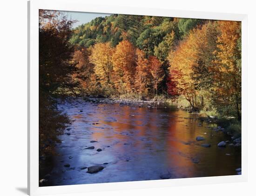
{"label": "pale patch of sky above the hill at upper left", "polygon": [[78,22],[74,23],[73,28],[90,22],[91,20],[97,17],[105,17],[110,16],[111,14],[108,13],[89,13],[89,12],[68,12],[68,11],[61,11],[61,13],[67,14],[68,19],[71,17],[72,20],[78,20]]}

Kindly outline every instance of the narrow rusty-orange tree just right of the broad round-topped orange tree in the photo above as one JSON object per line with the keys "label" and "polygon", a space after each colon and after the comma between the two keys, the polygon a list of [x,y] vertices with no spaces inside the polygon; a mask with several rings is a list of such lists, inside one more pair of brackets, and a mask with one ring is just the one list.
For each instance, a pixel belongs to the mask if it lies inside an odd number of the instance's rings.
{"label": "narrow rusty-orange tree just right of the broad round-topped orange tree", "polygon": [[136,57],[135,89],[141,98],[148,94],[150,83],[149,62],[146,59],[145,52],[140,49],[136,50]]}

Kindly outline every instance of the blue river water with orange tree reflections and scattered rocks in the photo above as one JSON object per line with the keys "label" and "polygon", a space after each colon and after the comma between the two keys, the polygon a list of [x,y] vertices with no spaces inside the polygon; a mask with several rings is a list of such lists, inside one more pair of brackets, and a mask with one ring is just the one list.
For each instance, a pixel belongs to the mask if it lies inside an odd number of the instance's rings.
{"label": "blue river water with orange tree reflections and scattered rocks", "polygon": [[[162,175],[226,176],[236,175],[236,168],[241,167],[240,147],[217,146],[231,141],[230,136],[186,111],[92,104],[81,99],[62,101],[58,108],[74,122],[59,137],[62,143],[56,145],[59,156],[53,159],[48,186],[156,180]],[[196,141],[197,136],[205,140]],[[85,149],[90,146],[95,148]],[[70,167],[64,166],[67,163]],[[81,170],[93,165],[104,169],[94,174]]]}

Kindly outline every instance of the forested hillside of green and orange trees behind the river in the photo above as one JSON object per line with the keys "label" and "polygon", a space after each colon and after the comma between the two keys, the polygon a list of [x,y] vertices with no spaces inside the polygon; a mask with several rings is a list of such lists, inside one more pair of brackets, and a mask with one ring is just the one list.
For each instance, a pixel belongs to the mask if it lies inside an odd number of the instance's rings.
{"label": "forested hillside of green and orange trees behind the river", "polygon": [[241,118],[241,23],[113,14],[74,29],[83,93],[182,98]]}

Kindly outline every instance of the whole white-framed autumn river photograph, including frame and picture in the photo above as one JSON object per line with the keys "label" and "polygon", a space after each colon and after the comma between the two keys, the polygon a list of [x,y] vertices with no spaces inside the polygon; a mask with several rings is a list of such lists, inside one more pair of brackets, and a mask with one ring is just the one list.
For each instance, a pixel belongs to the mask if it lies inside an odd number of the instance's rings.
{"label": "whole white-framed autumn river photograph, including frame and picture", "polygon": [[28,2],[28,191],[247,181],[247,15]]}

